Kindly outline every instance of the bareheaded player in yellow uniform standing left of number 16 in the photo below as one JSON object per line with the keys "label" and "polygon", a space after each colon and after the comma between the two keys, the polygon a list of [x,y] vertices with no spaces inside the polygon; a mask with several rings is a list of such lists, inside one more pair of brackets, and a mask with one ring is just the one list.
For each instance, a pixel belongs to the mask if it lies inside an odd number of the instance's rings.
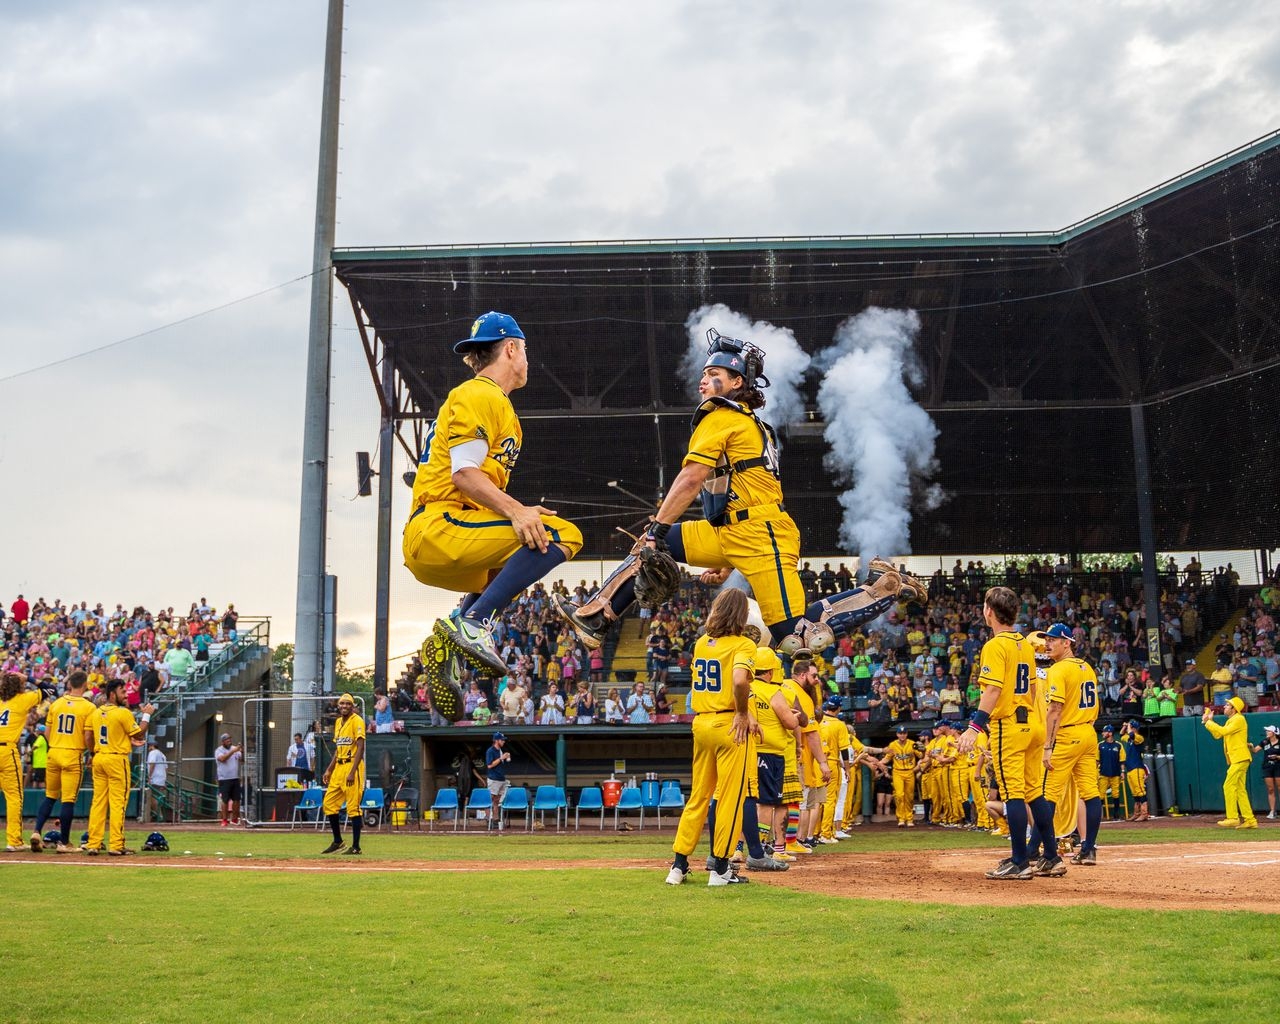
{"label": "bareheaded player in yellow uniform standing left of number 16", "polygon": [[[1037,692],[1036,654],[1030,640],[1014,628],[1020,602],[1007,586],[993,586],[982,613],[992,637],[982,645],[978,680],[982,699],[959,751],[973,750],[978,733],[989,732],[996,787],[1009,820],[1011,855],[987,872],[988,878],[1025,881],[1036,877],[1028,863],[1028,812],[1039,835],[1053,835],[1053,810],[1043,796],[1044,719]],[[1052,840],[1051,840],[1052,841]]]}

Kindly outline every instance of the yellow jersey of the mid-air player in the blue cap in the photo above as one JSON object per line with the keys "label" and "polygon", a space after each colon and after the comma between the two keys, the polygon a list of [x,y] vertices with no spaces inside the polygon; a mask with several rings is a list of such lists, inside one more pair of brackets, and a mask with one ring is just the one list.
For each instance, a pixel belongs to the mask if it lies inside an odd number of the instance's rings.
{"label": "yellow jersey of the mid-air player in the blue cap", "polygon": [[430,502],[467,499],[453,485],[449,449],[468,440],[489,444],[480,471],[499,490],[507,489],[524,442],[520,420],[507,393],[486,376],[475,376],[449,392],[428,431],[428,442],[413,477],[413,508]]}

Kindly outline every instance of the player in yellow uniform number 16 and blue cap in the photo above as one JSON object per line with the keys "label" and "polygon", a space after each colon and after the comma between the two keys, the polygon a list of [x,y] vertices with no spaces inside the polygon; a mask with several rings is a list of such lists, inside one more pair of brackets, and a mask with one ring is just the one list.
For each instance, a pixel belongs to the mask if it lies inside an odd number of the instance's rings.
{"label": "player in yellow uniform number 16 and blue cap", "polygon": [[[1076,658],[1071,631],[1061,622],[1044,634],[1048,657],[1046,678],[1048,710],[1044,721],[1044,799],[1053,804],[1069,801],[1075,814],[1076,797],[1084,801],[1084,835],[1073,860],[1076,864],[1098,863],[1098,828],[1102,824],[1102,796],[1098,792],[1098,677],[1082,658]],[[1068,780],[1074,780],[1075,792],[1068,794]],[[1055,829],[1057,831],[1057,829]],[[1057,864],[1061,858],[1056,856]],[[1057,864],[1042,864],[1041,874],[1062,874]]]}

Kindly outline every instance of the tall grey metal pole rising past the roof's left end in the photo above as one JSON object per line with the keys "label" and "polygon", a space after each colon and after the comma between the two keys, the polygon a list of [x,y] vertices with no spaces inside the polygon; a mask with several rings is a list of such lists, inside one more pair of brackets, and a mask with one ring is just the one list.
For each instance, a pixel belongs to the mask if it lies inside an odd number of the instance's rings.
{"label": "tall grey metal pole rising past the roof's left end", "polygon": [[[324,90],[320,104],[320,159],[316,173],[315,238],[311,248],[311,329],[307,337],[306,413],[302,433],[302,500],[298,515],[298,589],[293,649],[293,692],[323,684],[325,504],[329,488],[329,325],[333,320],[330,253],[338,205],[338,102],[342,90],[343,0],[329,0]],[[298,704],[301,708],[301,703]],[[293,731],[306,731],[297,718]]]}

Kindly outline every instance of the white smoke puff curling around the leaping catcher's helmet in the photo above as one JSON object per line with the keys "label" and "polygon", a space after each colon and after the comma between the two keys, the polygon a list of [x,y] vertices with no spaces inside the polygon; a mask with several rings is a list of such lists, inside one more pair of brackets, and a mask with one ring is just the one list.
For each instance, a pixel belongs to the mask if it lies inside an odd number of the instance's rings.
{"label": "white smoke puff curling around the leaping catcher's helmet", "polygon": [[764,351],[764,375],[769,387],[764,389],[764,408],[756,415],[774,429],[804,419],[800,384],[809,369],[809,356],[800,348],[795,334],[765,320],[753,321],[722,302],[699,306],[689,314],[685,328],[689,332],[689,351],[680,361],[678,374],[691,398],[698,399],[698,381],[707,362],[707,329],[716,328],[727,338],[750,342]]}

